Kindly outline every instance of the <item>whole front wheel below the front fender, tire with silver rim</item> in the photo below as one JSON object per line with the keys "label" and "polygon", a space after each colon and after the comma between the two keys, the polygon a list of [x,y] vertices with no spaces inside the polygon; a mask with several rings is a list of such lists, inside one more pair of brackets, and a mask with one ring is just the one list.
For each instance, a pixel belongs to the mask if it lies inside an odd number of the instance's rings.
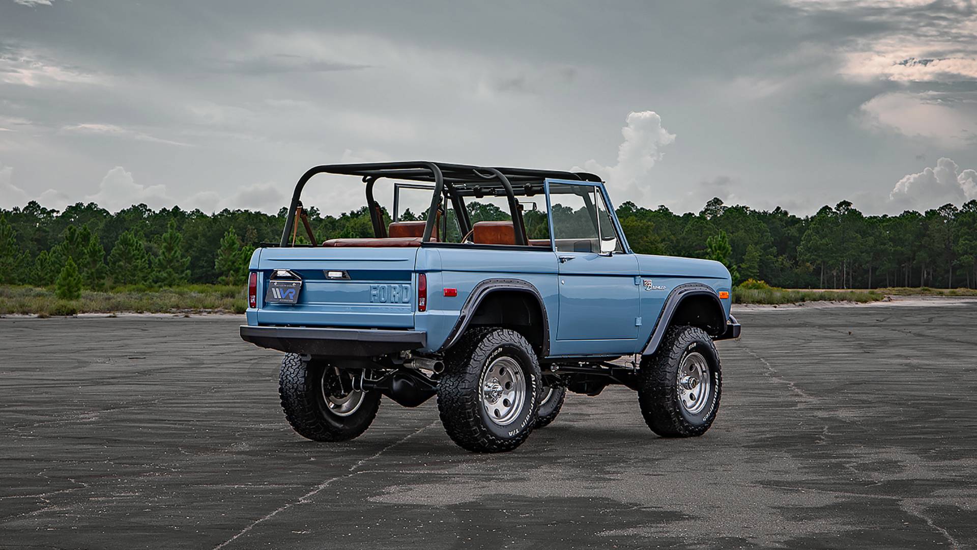
{"label": "whole front wheel below the front fender, tire with silver rim", "polygon": [[641,362],[638,403],[648,427],[663,437],[702,435],[719,410],[719,353],[697,327],[670,327],[658,351]]}

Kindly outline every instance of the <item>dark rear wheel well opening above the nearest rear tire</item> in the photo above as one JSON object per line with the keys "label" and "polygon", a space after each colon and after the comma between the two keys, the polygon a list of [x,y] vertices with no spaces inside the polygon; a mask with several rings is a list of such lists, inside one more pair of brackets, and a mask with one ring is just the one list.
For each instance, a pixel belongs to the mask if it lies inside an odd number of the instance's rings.
{"label": "dark rear wheel well opening above the nearest rear tire", "polygon": [[546,318],[539,300],[528,291],[491,291],[475,309],[468,327],[495,326],[523,335],[532,348],[545,354],[548,346]]}

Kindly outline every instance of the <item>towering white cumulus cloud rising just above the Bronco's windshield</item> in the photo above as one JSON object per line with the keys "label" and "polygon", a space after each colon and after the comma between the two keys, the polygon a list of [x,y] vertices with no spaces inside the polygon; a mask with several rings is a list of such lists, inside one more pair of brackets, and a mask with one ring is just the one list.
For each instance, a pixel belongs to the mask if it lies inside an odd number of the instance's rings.
{"label": "towering white cumulus cloud rising just above the Bronco's windshield", "polygon": [[624,190],[629,198],[638,199],[644,193],[645,176],[661,160],[661,148],[675,141],[675,134],[661,126],[661,116],[654,111],[632,112],[621,128],[624,141],[617,148],[617,163],[605,166],[597,160],[587,160],[583,168],[574,171],[593,172],[616,189]]}

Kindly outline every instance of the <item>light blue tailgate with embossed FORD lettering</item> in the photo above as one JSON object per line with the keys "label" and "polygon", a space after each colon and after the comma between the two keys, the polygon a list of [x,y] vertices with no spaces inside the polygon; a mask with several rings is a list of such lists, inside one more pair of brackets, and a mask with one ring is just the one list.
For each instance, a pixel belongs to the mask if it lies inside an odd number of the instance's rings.
{"label": "light blue tailgate with embossed FORD lettering", "polygon": [[[258,261],[259,325],[414,326],[416,248],[263,249]],[[266,300],[276,269],[302,280],[294,304]]]}

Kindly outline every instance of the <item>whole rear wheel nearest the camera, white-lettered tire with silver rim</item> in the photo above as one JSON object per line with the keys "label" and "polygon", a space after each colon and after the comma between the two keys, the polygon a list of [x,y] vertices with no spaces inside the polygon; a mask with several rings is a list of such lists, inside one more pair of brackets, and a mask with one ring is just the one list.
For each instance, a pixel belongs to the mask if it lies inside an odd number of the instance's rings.
{"label": "whole rear wheel nearest the camera, white-lettered tire with silver rim", "polygon": [[508,329],[476,329],[446,355],[438,410],[462,448],[500,452],[518,447],[536,422],[542,378],[530,343]]}

